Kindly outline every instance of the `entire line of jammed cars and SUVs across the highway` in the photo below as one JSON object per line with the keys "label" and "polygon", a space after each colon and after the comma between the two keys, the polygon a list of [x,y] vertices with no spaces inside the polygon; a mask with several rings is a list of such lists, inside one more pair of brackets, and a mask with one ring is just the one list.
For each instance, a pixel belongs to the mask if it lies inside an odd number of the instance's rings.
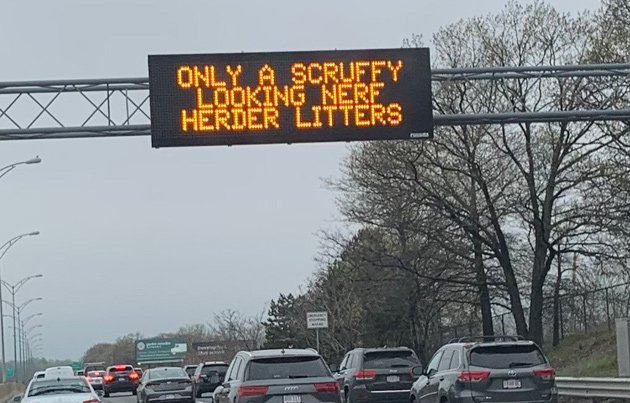
{"label": "entire line of jammed cars and SUVs across the highway", "polygon": [[410,348],[377,347],[348,351],[339,365],[287,348],[240,351],[229,363],[54,367],[35,373],[21,401],[99,403],[122,393],[138,403],[557,402],[549,360],[517,336],[452,340],[426,365]]}

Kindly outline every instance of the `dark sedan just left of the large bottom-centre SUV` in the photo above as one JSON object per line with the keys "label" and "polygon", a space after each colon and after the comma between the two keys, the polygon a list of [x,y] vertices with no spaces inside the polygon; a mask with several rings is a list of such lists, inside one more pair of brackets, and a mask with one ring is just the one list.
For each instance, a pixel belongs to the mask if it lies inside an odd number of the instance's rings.
{"label": "dark sedan just left of the large bottom-centre SUV", "polygon": [[195,401],[190,378],[179,367],[148,369],[140,379],[137,396],[138,403]]}

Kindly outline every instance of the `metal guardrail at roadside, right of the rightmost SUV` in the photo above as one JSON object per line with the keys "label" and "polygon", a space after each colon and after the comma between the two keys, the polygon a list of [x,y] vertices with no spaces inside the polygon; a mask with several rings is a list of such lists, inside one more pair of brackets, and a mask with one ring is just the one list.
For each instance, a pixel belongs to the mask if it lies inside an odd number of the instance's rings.
{"label": "metal guardrail at roadside, right of the rightmost SUV", "polygon": [[557,377],[556,386],[564,397],[630,399],[630,378]]}

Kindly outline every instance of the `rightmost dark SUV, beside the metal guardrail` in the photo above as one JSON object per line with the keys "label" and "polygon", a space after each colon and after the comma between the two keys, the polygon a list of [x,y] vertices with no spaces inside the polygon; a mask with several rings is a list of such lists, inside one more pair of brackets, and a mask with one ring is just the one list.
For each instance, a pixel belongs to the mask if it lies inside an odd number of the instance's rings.
{"label": "rightmost dark SUV, beside the metal guardrail", "polygon": [[557,402],[555,371],[542,350],[516,336],[462,338],[433,356],[412,403]]}

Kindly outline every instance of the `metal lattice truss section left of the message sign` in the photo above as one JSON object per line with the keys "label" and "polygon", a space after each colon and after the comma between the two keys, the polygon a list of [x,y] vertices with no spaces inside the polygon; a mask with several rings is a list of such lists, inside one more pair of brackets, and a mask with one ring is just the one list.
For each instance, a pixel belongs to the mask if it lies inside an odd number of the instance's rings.
{"label": "metal lattice truss section left of the message sign", "polygon": [[0,82],[0,140],[150,134],[147,78]]}

